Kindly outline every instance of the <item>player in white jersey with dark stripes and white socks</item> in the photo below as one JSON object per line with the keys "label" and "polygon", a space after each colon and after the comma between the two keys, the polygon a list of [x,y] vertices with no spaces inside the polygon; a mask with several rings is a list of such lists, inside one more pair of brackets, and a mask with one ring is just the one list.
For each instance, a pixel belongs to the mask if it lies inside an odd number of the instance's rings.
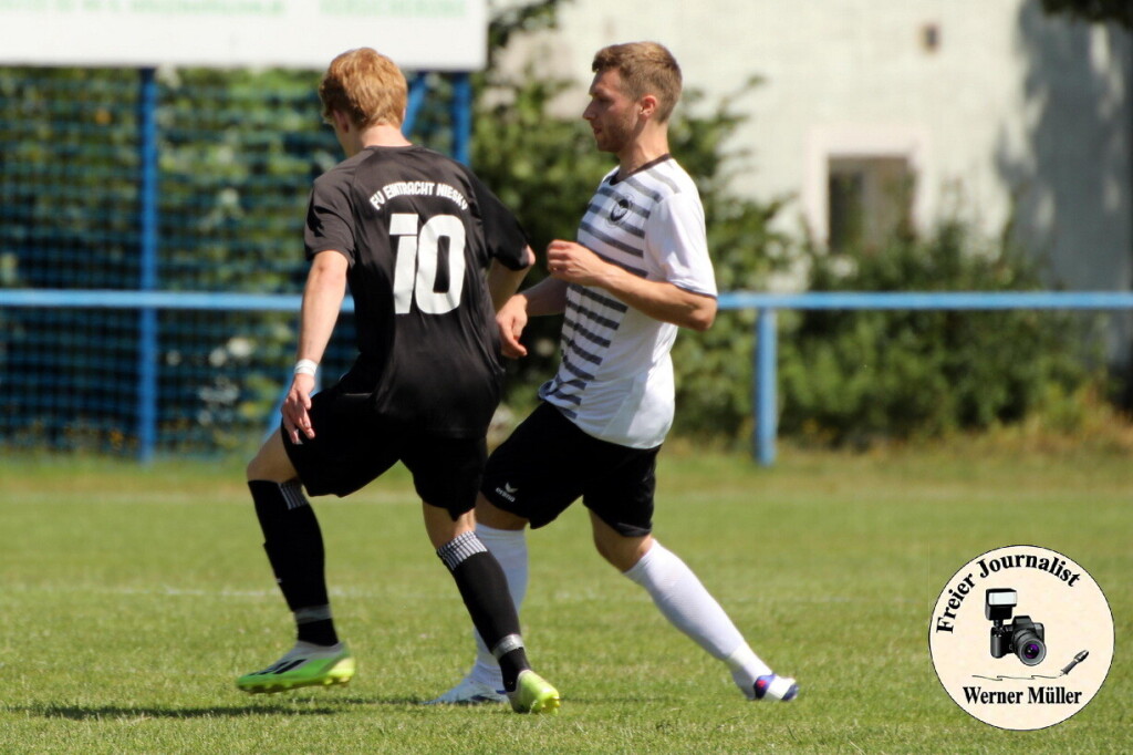
{"label": "player in white jersey with dark stripes and white socks", "polygon": [[[551,277],[496,316],[504,354],[521,357],[528,317],[565,313],[562,360],[539,389],[543,402],[488,460],[477,534],[519,606],[526,526],[551,523],[581,498],[603,558],[723,661],[749,699],[791,701],[795,680],[756,655],[697,576],[650,534],[657,451],[673,419],[670,350],[679,326],[712,325],[716,283],[696,185],[668,153],[676,60],[653,42],[617,44],[599,50],[593,69],[582,118],[619,164],[602,179],[578,240],[548,246]],[[499,664],[478,636],[477,645],[472,670],[434,703],[505,699]]]}

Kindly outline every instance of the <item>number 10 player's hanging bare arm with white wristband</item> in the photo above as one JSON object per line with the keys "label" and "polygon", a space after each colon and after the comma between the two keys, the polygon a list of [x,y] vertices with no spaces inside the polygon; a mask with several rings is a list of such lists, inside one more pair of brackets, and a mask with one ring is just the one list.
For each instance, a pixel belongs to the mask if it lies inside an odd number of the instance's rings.
{"label": "number 10 player's hanging bare arm with white wristband", "polygon": [[[296,358],[310,359],[315,364],[323,358],[346,296],[348,266],[347,258],[338,252],[320,252],[315,255],[303,291]],[[310,426],[310,415],[307,413],[314,388],[314,375],[296,375],[283,399],[283,427],[293,443],[301,442],[300,431],[307,438],[315,436],[315,429]]]}

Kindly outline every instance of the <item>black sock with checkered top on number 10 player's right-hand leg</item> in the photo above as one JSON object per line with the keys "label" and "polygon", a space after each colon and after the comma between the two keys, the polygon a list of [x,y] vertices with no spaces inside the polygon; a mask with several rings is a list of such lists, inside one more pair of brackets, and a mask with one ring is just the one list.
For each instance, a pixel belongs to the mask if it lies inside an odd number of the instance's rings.
{"label": "black sock with checkered top on number 10 player's right-hand leg", "polygon": [[472,625],[500,661],[503,687],[516,689],[519,672],[530,669],[519,634],[519,614],[508,592],[508,577],[500,562],[469,532],[437,550],[457,582]]}

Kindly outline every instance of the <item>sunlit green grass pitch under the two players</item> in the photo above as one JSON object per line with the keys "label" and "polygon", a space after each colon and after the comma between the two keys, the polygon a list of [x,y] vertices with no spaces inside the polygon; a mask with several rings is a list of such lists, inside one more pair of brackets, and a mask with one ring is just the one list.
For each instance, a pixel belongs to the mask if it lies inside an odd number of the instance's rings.
{"label": "sunlit green grass pitch under the two players", "polygon": [[[346,688],[245,696],[291,642],[231,464],[0,460],[0,753],[960,753],[1133,750],[1133,473],[1117,455],[666,452],[657,535],[799,701],[746,703],[723,667],[593,552],[581,509],[534,533],[523,611],[557,716],[420,706],[470,661],[463,608],[408,477],[317,503]],[[1002,545],[1071,555],[1116,622],[1101,692],[1065,723],[961,711],[928,653],[934,603]],[[1038,618],[1038,617],[1037,617]]]}

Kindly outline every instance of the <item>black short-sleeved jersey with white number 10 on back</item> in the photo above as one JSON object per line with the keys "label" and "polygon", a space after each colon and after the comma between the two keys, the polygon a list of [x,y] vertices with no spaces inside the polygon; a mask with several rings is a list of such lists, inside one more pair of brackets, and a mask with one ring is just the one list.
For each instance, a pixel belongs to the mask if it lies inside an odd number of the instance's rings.
{"label": "black short-sleeved jersey with white number 10 on back", "polygon": [[523,266],[516,218],[459,162],[367,147],[316,181],[307,256],[350,261],[359,356],[341,388],[415,431],[483,434],[500,401],[500,336],[484,270]]}

